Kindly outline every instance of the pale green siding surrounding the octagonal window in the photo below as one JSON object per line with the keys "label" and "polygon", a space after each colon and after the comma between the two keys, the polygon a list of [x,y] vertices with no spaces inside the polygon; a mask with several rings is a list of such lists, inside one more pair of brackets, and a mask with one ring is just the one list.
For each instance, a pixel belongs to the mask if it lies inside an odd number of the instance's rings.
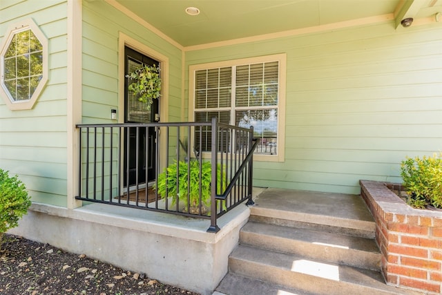
{"label": "pale green siding surrounding the octagonal window", "polygon": [[8,27],[32,18],[48,38],[49,77],[31,110],[0,98],[0,168],[18,174],[32,200],[66,206],[66,1],[0,1],[0,43]]}

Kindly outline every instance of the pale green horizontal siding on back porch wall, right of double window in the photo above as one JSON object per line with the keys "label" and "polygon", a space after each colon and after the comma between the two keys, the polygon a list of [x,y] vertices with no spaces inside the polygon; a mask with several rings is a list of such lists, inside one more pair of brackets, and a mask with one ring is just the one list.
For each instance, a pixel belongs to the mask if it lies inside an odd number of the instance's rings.
{"label": "pale green horizontal siding on back porch wall, right of double window", "polygon": [[358,193],[442,150],[441,35],[382,23],[189,51],[186,66],[287,53],[285,162],[256,162],[254,184]]}

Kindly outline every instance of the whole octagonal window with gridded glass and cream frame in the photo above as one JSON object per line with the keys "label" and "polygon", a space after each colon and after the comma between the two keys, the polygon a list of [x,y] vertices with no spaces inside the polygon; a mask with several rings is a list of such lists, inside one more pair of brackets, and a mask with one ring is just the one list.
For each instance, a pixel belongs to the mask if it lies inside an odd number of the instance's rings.
{"label": "whole octagonal window with gridded glass and cream frame", "polygon": [[1,50],[1,91],[10,109],[29,109],[47,80],[47,40],[32,20],[16,24]]}

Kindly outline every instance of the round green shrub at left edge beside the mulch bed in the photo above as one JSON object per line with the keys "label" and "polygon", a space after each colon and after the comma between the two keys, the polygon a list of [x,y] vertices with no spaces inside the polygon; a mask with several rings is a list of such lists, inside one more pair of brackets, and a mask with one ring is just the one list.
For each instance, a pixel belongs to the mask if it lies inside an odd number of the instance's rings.
{"label": "round green shrub at left edge beside the mulch bed", "polygon": [[0,247],[3,234],[19,225],[19,219],[27,213],[30,204],[23,182],[17,175],[9,176],[8,171],[0,169]]}

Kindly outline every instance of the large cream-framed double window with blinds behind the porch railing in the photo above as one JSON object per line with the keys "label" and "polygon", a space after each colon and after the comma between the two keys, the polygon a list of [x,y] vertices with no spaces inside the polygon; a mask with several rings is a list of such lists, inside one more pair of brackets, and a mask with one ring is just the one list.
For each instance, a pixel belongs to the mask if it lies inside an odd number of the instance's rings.
{"label": "large cream-framed double window with blinds behind the porch railing", "polygon": [[[285,55],[270,55],[191,66],[189,117],[253,126],[253,136],[260,140],[256,160],[283,161],[285,64]],[[202,136],[209,144],[209,133]]]}

